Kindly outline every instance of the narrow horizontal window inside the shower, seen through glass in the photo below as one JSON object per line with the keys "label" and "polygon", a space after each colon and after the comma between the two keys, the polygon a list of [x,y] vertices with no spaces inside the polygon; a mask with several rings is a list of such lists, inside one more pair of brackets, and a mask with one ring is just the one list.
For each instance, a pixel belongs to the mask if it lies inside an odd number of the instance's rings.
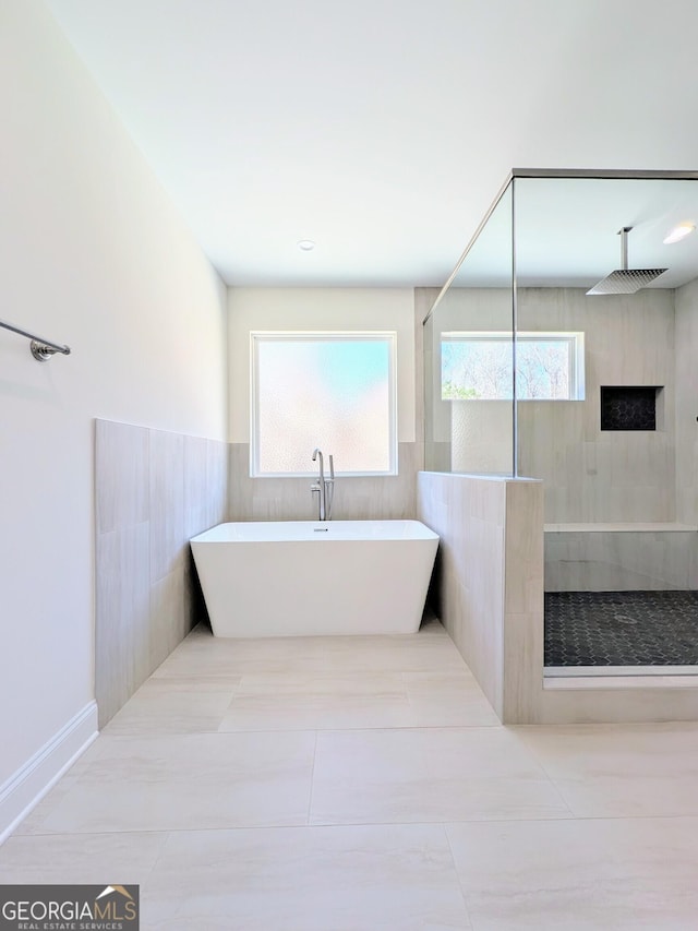
{"label": "narrow horizontal window inside the shower, seen through glass", "polygon": [[[444,333],[443,401],[510,401],[514,346],[510,333]],[[519,401],[583,399],[583,333],[518,333]]]}

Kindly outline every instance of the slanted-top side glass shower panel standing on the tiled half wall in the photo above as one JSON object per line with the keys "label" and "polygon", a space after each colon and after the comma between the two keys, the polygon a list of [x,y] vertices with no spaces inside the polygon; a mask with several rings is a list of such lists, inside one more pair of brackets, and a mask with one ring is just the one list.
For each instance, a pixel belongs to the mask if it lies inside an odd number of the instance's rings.
{"label": "slanted-top side glass shower panel standing on the tiled half wall", "polygon": [[424,324],[425,466],[514,475],[512,186]]}

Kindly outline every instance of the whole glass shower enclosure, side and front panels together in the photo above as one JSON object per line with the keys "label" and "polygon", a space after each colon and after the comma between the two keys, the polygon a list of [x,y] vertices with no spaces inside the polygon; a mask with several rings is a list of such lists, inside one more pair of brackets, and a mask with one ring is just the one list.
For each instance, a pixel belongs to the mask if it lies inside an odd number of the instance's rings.
{"label": "whole glass shower enclosure, side and front panels together", "polygon": [[513,171],[424,322],[425,467],[539,478],[545,673],[698,667],[698,174]]}

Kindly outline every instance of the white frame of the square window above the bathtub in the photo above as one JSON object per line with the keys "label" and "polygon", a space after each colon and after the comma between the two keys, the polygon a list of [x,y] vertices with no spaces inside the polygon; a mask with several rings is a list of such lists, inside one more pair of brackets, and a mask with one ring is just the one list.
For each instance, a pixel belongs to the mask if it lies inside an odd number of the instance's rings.
{"label": "white frame of the square window above the bathtub", "polygon": [[[309,478],[316,474],[308,472],[262,472],[260,468],[260,359],[257,347],[264,342],[309,343],[352,342],[386,343],[388,349],[388,468],[385,470],[346,472],[336,469],[342,478],[365,476],[389,477],[398,475],[398,411],[397,411],[397,331],[395,330],[253,330],[250,331],[250,477],[251,478]],[[309,450],[309,459],[310,453]],[[323,450],[327,456],[333,450]]]}

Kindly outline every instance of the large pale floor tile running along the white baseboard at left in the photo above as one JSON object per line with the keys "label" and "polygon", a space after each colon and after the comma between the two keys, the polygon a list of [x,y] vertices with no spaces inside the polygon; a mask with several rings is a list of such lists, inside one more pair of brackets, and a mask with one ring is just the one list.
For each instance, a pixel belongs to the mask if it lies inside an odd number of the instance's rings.
{"label": "large pale floor tile running along the white baseboard at left", "polygon": [[314,733],[104,737],[34,833],[305,824]]}

